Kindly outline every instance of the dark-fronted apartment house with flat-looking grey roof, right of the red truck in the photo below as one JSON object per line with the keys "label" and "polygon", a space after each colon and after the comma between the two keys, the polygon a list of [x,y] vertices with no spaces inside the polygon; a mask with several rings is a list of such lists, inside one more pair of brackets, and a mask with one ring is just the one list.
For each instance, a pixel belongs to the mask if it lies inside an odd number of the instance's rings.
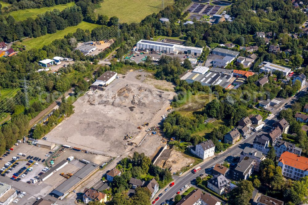
{"label": "dark-fronted apartment house with flat-looking grey roof, right of the red truck", "polygon": [[250,157],[244,157],[237,167],[233,170],[232,178],[234,180],[246,180],[253,173],[256,162]]}

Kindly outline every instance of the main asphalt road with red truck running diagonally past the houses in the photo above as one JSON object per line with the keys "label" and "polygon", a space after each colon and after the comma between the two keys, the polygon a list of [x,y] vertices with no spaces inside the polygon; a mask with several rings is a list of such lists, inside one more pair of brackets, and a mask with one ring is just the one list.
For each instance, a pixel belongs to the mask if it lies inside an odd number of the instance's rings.
{"label": "main asphalt road with red truck running diagonally past the houses", "polygon": [[[286,109],[286,108],[290,108],[291,104],[294,103],[296,101],[296,99],[298,97],[303,96],[306,93],[306,85],[304,88],[304,91],[300,91],[296,96],[291,97],[289,99],[287,99],[284,103],[282,103],[282,105],[280,105],[278,108],[276,108],[275,110],[272,111],[272,114],[274,116],[271,116],[269,119],[265,119],[264,122],[266,123],[266,126],[263,127],[262,131],[260,133],[258,132],[254,132],[252,135],[250,135],[247,139],[241,139],[240,142],[238,142],[236,145],[233,145],[232,147],[228,148],[226,151],[224,151],[223,153],[220,153],[219,155],[217,155],[217,159],[210,159],[208,161],[206,161],[205,163],[203,163],[200,167],[202,168],[201,171],[197,172],[196,174],[193,174],[192,172],[188,172],[186,174],[183,174],[182,176],[173,176],[174,179],[174,185],[173,187],[170,187],[169,185],[168,187],[168,191],[164,191],[164,188],[162,188],[154,197],[154,199],[160,194],[163,193],[163,195],[160,197],[160,199],[158,199],[158,201],[156,202],[156,204],[161,204],[163,202],[167,202],[171,200],[175,197],[176,192],[180,191],[181,188],[183,188],[186,184],[189,186],[191,185],[191,181],[193,179],[195,179],[197,176],[199,176],[200,174],[205,174],[206,171],[209,170],[209,168],[213,167],[216,163],[223,163],[226,158],[228,156],[239,156],[241,154],[241,152],[243,151],[243,149],[245,147],[249,147],[252,143],[253,140],[255,139],[256,135],[261,135],[262,133],[267,133],[268,130],[272,127],[273,123],[277,120],[277,116],[279,114],[279,112],[281,111],[280,108],[282,109]],[[286,104],[287,103],[287,104]],[[183,191],[180,192],[180,194],[183,194],[184,191],[186,191],[189,187],[184,188]]]}

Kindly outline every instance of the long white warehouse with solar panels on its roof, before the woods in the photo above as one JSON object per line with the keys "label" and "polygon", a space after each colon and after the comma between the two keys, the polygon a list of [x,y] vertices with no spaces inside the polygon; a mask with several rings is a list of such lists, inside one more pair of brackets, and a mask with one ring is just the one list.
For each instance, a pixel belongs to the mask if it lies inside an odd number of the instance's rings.
{"label": "long white warehouse with solar panels on its roof, before the woods", "polygon": [[159,51],[168,54],[184,53],[200,56],[203,48],[182,46],[172,43],[140,40],[139,42],[137,42],[137,50]]}

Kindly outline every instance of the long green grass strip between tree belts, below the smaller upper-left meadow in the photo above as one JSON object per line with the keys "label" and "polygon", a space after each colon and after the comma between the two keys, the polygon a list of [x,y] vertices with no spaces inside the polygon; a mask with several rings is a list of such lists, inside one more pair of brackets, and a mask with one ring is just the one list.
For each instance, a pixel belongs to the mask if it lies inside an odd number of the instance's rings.
{"label": "long green grass strip between tree belts, below the smaller upper-left meadow", "polygon": [[67,27],[64,30],[59,30],[57,33],[54,34],[46,34],[38,38],[27,38],[23,40],[22,45],[25,45],[27,49],[42,48],[44,45],[48,45],[56,39],[63,38],[68,33],[74,33],[78,28],[83,30],[89,29],[91,31],[92,29],[98,26],[99,26],[98,24],[87,23],[83,21],[79,23],[77,26]]}

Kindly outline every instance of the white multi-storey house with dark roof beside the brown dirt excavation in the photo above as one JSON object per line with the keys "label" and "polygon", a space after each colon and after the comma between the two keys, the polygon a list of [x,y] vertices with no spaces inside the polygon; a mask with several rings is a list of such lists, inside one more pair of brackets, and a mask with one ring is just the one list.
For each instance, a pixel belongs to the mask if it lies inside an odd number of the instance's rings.
{"label": "white multi-storey house with dark roof beside the brown dirt excavation", "polygon": [[215,145],[212,140],[208,140],[191,147],[190,152],[201,159],[206,159],[214,155]]}

